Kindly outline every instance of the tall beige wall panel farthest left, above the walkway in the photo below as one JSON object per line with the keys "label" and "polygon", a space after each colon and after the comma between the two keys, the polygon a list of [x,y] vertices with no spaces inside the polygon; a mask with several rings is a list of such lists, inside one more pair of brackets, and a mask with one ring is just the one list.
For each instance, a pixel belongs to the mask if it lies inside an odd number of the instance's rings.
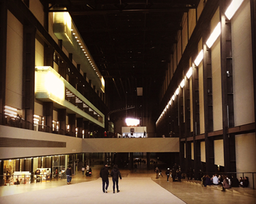
{"label": "tall beige wall panel farthest left, above the walkway", "polygon": [[8,10],[5,104],[22,109],[23,24]]}

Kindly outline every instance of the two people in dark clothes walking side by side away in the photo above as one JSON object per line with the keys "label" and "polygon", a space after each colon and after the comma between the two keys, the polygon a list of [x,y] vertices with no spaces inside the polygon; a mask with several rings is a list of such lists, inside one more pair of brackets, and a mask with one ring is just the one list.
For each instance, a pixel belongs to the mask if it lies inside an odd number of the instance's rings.
{"label": "two people in dark clothes walking side by side away", "polygon": [[[117,188],[117,192],[119,192],[119,186],[118,186],[118,180],[120,178],[120,180],[122,180],[122,176],[121,173],[117,167],[117,165],[113,166],[113,169],[110,173],[111,177],[112,177],[112,181],[113,181],[113,193],[115,193],[115,185]],[[100,169],[100,177],[102,178],[102,190],[104,193],[108,192],[108,188],[109,188],[109,168],[108,165],[104,165],[104,167],[102,167],[102,169]]]}

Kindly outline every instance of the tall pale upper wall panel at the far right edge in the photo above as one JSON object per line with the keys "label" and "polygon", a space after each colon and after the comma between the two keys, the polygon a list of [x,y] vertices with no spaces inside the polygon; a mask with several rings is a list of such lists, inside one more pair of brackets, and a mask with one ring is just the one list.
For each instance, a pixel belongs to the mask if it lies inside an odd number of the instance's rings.
{"label": "tall pale upper wall panel at the far right edge", "polygon": [[250,1],[231,18],[235,126],[255,122]]}

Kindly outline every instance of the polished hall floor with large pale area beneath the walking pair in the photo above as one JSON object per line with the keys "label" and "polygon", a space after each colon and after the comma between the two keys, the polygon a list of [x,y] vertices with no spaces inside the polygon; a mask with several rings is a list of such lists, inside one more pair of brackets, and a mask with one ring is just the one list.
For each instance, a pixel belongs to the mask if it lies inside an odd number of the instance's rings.
{"label": "polished hall floor with large pale area beneath the walking pair", "polygon": [[66,180],[2,186],[0,203],[244,203],[256,204],[256,190],[232,188],[222,192],[216,186],[202,187],[197,182],[167,182],[167,176],[156,179],[154,171],[138,168],[136,172],[121,170],[120,192],[113,194],[110,179],[108,193],[102,192],[100,167],[92,167],[93,176],[78,172],[72,184]]}

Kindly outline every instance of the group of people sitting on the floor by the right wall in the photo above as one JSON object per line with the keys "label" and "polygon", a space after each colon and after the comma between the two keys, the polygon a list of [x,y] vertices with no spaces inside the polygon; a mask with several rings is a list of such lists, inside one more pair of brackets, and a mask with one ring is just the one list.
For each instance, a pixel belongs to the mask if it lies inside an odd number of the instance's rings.
{"label": "group of people sitting on the floor by the right wall", "polygon": [[234,175],[229,178],[227,175],[212,175],[210,177],[209,175],[203,175],[201,178],[201,184],[202,186],[207,185],[221,185],[223,187],[222,191],[225,191],[227,188],[231,187],[248,187],[248,177],[240,177],[240,180],[238,181],[238,178]]}

